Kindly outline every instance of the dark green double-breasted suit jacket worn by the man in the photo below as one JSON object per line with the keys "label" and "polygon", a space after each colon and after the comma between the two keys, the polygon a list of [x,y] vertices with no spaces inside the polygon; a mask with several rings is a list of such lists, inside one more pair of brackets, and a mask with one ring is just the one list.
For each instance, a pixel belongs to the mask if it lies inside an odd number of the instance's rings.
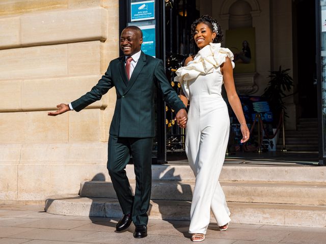
{"label": "dark green double-breasted suit jacket worn by the man", "polygon": [[163,62],[146,55],[141,56],[128,81],[125,56],[110,62],[107,71],[98,83],[84,96],[71,103],[77,112],[100,100],[102,95],[116,87],[117,102],[110,127],[110,134],[119,137],[154,137],[154,95],[156,87],[161,90],[164,101],[175,111],[184,104],[168,81]]}

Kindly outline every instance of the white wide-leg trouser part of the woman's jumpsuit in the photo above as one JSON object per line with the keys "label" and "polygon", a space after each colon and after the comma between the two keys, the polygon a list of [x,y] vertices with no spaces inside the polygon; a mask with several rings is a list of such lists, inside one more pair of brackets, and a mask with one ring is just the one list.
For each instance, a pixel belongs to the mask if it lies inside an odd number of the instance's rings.
{"label": "white wide-leg trouser part of the woman's jumpsuit", "polygon": [[189,165],[196,176],[189,233],[206,234],[210,210],[219,226],[223,226],[231,220],[226,198],[219,182],[229,139],[230,124],[227,111],[219,117],[217,120],[208,119],[210,120],[208,125],[204,125],[205,118],[192,121],[189,119],[187,124],[185,149]]}

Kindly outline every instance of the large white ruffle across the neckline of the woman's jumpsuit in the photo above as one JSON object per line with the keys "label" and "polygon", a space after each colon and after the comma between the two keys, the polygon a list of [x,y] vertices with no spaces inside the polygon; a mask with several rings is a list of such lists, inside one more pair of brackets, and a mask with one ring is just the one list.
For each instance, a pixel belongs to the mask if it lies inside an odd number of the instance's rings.
{"label": "large white ruffle across the neckline of the woman's jumpsuit", "polygon": [[225,63],[226,57],[231,59],[234,68],[233,53],[228,48],[221,47],[221,43],[209,43],[195,56],[194,60],[187,66],[181,67],[176,71],[174,81],[179,81],[184,95],[189,99],[188,80],[197,78],[199,75],[212,73],[214,69]]}

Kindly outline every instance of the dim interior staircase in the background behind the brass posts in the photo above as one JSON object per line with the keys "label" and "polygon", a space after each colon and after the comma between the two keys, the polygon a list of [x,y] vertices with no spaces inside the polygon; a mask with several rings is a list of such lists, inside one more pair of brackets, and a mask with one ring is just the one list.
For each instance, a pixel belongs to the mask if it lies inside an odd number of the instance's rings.
{"label": "dim interior staircase in the background behind the brass posts", "polygon": [[[280,133],[277,149],[282,147],[283,138]],[[317,118],[300,118],[295,131],[286,130],[285,147],[290,151],[318,151]]]}

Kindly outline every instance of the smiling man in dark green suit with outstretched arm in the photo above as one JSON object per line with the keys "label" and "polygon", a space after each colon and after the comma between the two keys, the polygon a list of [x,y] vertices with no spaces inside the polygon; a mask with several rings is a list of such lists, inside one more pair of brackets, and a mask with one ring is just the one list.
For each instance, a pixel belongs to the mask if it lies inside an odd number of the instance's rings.
{"label": "smiling man in dark green suit with outstretched arm", "polygon": [[[162,61],[143,53],[142,43],[141,29],[137,26],[126,27],[120,37],[120,48],[124,56],[110,62],[107,71],[90,92],[69,105],[60,104],[56,112],[48,113],[56,116],[69,110],[78,112],[100,100],[113,86],[116,88],[117,102],[108,139],[107,169],[123,212],[116,231],[125,231],[132,221],[135,225],[135,238],[147,236],[151,154],[155,136],[155,87],[177,111],[177,124],[184,128],[187,120],[186,108],[167,80]],[[136,176],[134,196],[125,172],[130,155]]]}

